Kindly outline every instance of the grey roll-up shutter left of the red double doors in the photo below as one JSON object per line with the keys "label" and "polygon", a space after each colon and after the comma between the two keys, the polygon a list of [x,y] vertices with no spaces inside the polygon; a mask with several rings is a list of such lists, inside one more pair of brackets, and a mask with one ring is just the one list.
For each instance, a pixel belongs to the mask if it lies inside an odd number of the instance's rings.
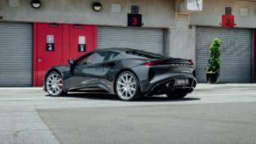
{"label": "grey roll-up shutter left of the red double doors", "polygon": [[32,86],[31,24],[0,23],[0,86]]}

